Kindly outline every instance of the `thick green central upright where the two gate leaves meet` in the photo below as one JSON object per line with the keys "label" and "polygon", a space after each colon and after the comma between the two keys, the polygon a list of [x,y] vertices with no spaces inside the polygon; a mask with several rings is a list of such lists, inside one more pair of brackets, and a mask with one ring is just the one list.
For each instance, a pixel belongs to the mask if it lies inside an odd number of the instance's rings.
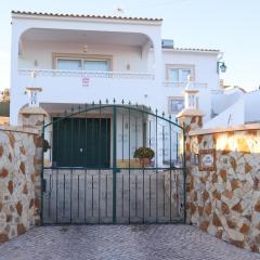
{"label": "thick green central upright where the two gate leaves meet", "polygon": [[114,100],[113,106],[113,223],[116,224],[117,216],[116,216],[116,195],[117,195],[117,180],[116,180],[116,172],[117,172],[117,107]]}

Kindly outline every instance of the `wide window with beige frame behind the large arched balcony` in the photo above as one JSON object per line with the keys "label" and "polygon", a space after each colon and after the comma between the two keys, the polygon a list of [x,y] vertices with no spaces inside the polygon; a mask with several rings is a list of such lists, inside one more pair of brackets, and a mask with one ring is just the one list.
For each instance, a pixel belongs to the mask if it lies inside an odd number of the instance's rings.
{"label": "wide window with beige frame behind the large arched balcony", "polygon": [[79,56],[79,54],[53,54],[53,67],[64,70],[109,72],[110,57],[98,55]]}

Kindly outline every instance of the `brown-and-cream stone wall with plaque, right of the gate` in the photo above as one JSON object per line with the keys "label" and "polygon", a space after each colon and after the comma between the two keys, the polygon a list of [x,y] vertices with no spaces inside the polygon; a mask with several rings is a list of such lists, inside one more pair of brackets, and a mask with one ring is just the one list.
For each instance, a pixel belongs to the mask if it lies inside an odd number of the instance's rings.
{"label": "brown-and-cream stone wall with plaque, right of the gate", "polygon": [[[260,125],[190,132],[187,212],[191,222],[223,240],[260,251]],[[196,158],[216,151],[216,169]]]}

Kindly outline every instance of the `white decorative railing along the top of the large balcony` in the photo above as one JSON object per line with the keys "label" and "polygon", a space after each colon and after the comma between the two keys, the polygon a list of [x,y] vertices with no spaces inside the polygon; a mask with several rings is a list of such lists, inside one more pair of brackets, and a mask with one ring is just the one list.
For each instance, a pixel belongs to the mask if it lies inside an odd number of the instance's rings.
{"label": "white decorative railing along the top of the large balcony", "polygon": [[114,79],[154,79],[153,74],[121,73],[121,72],[87,72],[87,70],[58,70],[58,69],[18,69],[20,75],[31,77],[89,77]]}

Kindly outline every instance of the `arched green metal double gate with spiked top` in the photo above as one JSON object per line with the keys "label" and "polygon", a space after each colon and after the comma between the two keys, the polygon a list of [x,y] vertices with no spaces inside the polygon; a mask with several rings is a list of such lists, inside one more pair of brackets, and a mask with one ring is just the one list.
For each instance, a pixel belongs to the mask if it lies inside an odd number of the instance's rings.
{"label": "arched green metal double gate with spiked top", "polygon": [[[131,104],[92,104],[43,126],[42,224],[171,223],[185,219],[184,130]],[[150,147],[143,166],[133,157]],[[180,153],[181,151],[181,153]]]}

